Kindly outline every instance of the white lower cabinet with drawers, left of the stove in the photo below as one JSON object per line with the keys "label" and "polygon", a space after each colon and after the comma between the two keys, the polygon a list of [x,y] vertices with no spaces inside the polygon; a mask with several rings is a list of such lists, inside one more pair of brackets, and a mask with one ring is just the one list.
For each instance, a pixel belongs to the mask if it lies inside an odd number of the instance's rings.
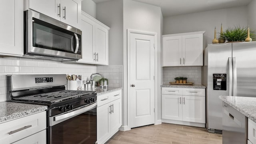
{"label": "white lower cabinet with drawers, left of the stove", "polygon": [[46,111],[0,123],[1,144],[46,144]]}

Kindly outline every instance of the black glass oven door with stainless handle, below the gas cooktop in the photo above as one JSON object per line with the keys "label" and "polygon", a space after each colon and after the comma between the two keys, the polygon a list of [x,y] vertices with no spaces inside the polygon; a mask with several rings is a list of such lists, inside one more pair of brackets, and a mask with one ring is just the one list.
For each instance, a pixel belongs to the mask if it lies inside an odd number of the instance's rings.
{"label": "black glass oven door with stainless handle, below the gas cooktop", "polygon": [[97,102],[49,118],[50,144],[95,144]]}

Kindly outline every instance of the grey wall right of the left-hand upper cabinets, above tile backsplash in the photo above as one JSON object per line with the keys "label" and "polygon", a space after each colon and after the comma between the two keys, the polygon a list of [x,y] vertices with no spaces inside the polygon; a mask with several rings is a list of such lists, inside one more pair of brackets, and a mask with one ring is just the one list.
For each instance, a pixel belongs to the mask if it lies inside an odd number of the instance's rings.
{"label": "grey wall right of the left-hand upper cabinets, above tile backsplash", "polygon": [[123,1],[112,0],[97,4],[97,20],[110,27],[109,65],[123,64]]}

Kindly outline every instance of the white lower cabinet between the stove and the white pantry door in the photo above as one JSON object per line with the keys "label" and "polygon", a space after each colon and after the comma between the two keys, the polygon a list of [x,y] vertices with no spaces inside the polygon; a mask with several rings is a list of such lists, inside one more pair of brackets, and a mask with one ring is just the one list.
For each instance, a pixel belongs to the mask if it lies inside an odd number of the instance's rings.
{"label": "white lower cabinet between the stove and the white pantry door", "polygon": [[97,96],[97,142],[104,144],[122,125],[122,90]]}

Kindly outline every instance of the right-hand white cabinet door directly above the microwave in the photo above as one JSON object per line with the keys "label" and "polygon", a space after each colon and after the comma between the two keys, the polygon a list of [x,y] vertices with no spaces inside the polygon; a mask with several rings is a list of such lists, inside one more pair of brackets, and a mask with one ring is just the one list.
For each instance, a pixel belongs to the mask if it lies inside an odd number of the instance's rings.
{"label": "right-hand white cabinet door directly above the microwave", "polygon": [[61,0],[61,21],[80,28],[81,22],[81,0]]}

